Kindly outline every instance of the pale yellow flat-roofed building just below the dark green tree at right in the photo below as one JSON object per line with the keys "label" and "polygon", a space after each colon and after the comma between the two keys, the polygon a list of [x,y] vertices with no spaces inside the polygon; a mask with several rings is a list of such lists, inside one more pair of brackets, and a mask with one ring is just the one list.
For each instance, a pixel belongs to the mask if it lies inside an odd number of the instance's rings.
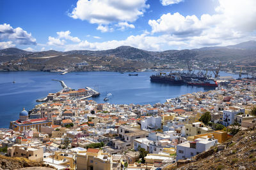
{"label": "pale yellow flat-roofed building just below the dark green tree at right", "polygon": [[195,136],[197,134],[205,134],[208,132],[213,132],[213,130],[205,126],[202,122],[195,122],[185,125],[186,136]]}

